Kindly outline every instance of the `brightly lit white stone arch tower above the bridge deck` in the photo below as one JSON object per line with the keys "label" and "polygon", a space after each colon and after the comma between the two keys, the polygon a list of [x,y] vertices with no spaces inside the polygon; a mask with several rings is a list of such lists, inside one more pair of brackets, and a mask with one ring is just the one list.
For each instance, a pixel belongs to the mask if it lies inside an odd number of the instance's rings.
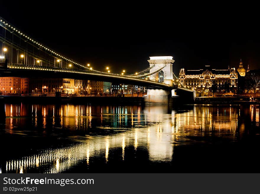
{"label": "brightly lit white stone arch tower above the bridge deck", "polygon": [[150,80],[159,81],[166,84],[173,84],[173,57],[172,56],[150,56],[150,73],[161,69],[157,73],[150,75]]}

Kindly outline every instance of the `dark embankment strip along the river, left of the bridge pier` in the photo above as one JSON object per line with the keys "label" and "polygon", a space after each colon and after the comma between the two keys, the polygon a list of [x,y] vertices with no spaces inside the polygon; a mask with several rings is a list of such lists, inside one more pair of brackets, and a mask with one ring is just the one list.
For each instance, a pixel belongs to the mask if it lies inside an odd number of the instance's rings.
{"label": "dark embankment strip along the river, left of the bridge pier", "polygon": [[143,97],[115,97],[115,96],[2,96],[5,103],[37,103],[37,104],[144,104]]}

